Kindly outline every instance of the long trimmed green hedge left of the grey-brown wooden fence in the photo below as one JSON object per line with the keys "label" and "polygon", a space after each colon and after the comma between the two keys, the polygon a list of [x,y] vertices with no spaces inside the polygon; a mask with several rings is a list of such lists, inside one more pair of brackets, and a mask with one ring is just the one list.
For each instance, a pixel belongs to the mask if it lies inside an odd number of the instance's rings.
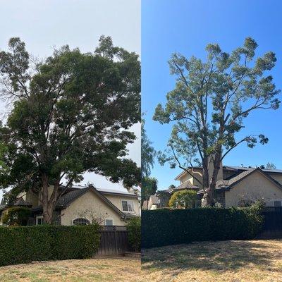
{"label": "long trimmed green hedge left of the grey-brown wooden fence", "polygon": [[85,259],[99,247],[99,226],[0,227],[0,266]]}

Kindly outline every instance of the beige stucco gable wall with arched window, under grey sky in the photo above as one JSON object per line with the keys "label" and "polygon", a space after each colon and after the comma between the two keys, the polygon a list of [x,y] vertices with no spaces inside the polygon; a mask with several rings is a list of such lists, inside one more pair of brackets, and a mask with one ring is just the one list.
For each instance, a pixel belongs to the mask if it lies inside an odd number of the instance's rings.
{"label": "beige stucco gable wall with arched window, under grey sky", "polygon": [[[114,219],[114,225],[124,226],[125,221],[108,204],[102,201],[94,192],[88,191],[61,212],[61,224],[72,225],[73,219],[83,217],[92,220],[92,215],[102,219]],[[104,225],[104,221],[101,223]]]}

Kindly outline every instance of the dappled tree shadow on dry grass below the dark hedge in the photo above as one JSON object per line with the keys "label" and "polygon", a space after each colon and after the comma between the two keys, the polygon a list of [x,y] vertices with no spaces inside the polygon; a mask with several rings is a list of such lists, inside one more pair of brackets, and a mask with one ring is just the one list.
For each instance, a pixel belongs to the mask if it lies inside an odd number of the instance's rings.
{"label": "dappled tree shadow on dry grass below the dark hedge", "polygon": [[202,242],[142,251],[142,269],[232,271],[255,264],[271,267],[282,257],[280,249],[265,241]]}

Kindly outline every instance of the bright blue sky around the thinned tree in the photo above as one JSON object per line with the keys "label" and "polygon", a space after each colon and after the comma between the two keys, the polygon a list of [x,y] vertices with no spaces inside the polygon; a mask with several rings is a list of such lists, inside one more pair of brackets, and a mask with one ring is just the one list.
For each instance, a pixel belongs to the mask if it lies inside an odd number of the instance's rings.
{"label": "bright blue sky around the thinned tree", "polygon": [[[282,89],[281,11],[282,1],[278,0],[142,0],[142,111],[147,114],[147,135],[155,149],[165,149],[171,133],[171,125],[160,125],[152,116],[175,85],[167,63],[173,52],[204,59],[208,43],[218,43],[223,51],[230,52],[243,44],[245,37],[253,37],[259,44],[257,55],[276,53],[271,75],[276,87]],[[252,112],[238,137],[263,133],[269,143],[254,149],[240,145],[223,164],[259,166],[270,161],[282,169],[281,121],[282,106],[277,111]],[[156,161],[152,176],[159,180],[159,189],[164,189],[178,184],[173,179],[180,172],[180,168],[172,170]]]}

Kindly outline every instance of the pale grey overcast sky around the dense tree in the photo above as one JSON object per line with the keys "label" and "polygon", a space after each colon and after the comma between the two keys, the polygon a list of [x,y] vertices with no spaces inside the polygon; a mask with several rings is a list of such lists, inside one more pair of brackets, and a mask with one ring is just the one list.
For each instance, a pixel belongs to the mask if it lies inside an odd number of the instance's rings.
{"label": "pale grey overcast sky around the dense tree", "polygon": [[[39,58],[65,44],[92,52],[99,37],[109,35],[116,46],[140,55],[140,5],[140,0],[0,0],[0,50],[6,50],[11,37],[20,37],[27,51]],[[1,102],[0,117],[7,111]],[[129,157],[140,165],[140,124],[132,129],[137,140],[128,146]],[[121,184],[94,173],[86,173],[80,185],[87,182],[125,191]]]}

